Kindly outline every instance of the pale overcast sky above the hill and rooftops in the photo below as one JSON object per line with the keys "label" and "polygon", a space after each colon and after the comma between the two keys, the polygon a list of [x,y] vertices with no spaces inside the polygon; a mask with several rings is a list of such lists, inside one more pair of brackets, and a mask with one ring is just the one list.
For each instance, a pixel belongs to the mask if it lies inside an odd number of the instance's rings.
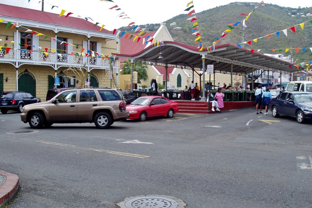
{"label": "pale overcast sky above the hill and rooftops", "polygon": [[[0,0],[2,4],[12,6],[25,7],[41,10],[40,0]],[[164,22],[179,14],[187,14],[184,11],[187,8],[188,2],[191,0],[113,0],[114,2],[106,2],[100,0],[44,0],[44,11],[60,13],[61,10],[72,12],[71,16],[80,15],[82,17],[91,17],[99,25],[105,25],[105,29],[113,30],[122,26],[127,26],[130,22],[135,22],[137,25],[160,23]],[[202,12],[214,7],[226,5],[231,2],[247,2],[237,0],[193,0],[195,12]],[[261,2],[259,0],[259,2]],[[258,3],[259,3],[258,2]],[[255,2],[254,2],[255,3]],[[311,7],[312,3],[309,0],[264,0],[265,4],[277,4],[284,7]],[[52,5],[58,6],[51,10]],[[109,9],[118,5],[121,10]],[[1,11],[1,7],[0,7]],[[122,19],[118,17],[124,12],[129,18]],[[250,12],[250,11],[246,11]],[[312,12],[312,11],[311,11]],[[186,18],[187,19],[187,18]],[[95,23],[93,22],[93,23]]]}

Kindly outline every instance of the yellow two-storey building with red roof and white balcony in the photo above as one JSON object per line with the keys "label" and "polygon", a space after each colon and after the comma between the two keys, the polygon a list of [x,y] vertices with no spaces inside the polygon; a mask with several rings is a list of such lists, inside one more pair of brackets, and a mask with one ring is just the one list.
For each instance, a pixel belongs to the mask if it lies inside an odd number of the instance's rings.
{"label": "yellow two-storey building with red roof and white balcony", "polygon": [[[77,87],[86,80],[65,70],[85,67],[90,86],[110,86],[109,60],[118,52],[118,37],[85,19],[0,4],[0,92],[26,91],[46,99],[48,89]],[[7,27],[7,23],[10,26]],[[6,43],[6,45],[3,45]],[[84,65],[85,64],[85,65]],[[118,84],[117,64],[113,73]],[[55,78],[59,78],[55,85]]]}

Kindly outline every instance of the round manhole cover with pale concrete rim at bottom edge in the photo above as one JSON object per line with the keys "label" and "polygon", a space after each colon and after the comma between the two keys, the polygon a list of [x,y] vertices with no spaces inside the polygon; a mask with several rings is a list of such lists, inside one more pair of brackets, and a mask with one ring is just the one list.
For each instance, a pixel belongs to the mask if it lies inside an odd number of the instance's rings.
{"label": "round manhole cover with pale concrete rim at bottom edge", "polygon": [[172,196],[139,196],[126,198],[117,204],[121,208],[183,208],[186,204]]}

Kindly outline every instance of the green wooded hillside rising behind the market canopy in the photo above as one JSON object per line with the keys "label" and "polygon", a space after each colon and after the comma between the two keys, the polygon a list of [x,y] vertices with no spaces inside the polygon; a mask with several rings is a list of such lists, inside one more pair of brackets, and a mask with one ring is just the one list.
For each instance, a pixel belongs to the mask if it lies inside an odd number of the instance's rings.
{"label": "green wooded hillside rising behind the market canopy", "polygon": [[[240,15],[241,13],[248,14],[255,8],[250,2],[240,3],[244,5],[238,5],[234,2],[229,5],[212,8],[196,14],[199,32],[201,33],[204,47],[212,45],[215,38],[220,37],[222,32],[228,29],[227,25],[242,21],[246,16]],[[195,11],[197,6],[198,5],[194,5]],[[295,12],[293,10],[297,11]],[[245,41],[249,41],[312,19],[312,16],[300,17],[302,14],[297,13],[303,13],[304,15],[312,13],[312,7],[290,8],[280,7],[273,4],[264,4],[263,6],[258,7],[246,21],[247,27],[245,27],[245,31],[243,31],[243,25],[241,23],[235,27],[232,32],[229,32],[227,36],[222,38],[217,45],[226,43],[234,45],[239,44],[242,42],[243,33]],[[291,15],[295,15],[295,17],[291,17]],[[196,36],[191,35],[193,33],[192,26],[194,22],[192,23],[189,20],[186,20],[187,18],[188,17],[186,17],[185,14],[178,15],[165,21],[167,23],[166,26],[175,42],[198,46],[198,43],[194,44]],[[176,25],[170,26],[170,23],[172,22],[176,22]],[[159,24],[140,25],[140,27],[143,28],[145,26],[148,26],[150,31],[153,31],[157,29],[154,27],[159,26]],[[176,30],[173,29],[174,27],[182,27],[182,29]],[[262,49],[260,51],[261,53],[281,53],[284,54],[284,56],[291,54],[292,58],[300,59],[298,60],[300,62],[311,61],[312,52],[309,47],[312,47],[312,25],[310,22],[306,22],[304,29],[301,29],[299,25],[295,28],[296,33],[292,32],[290,29],[287,30],[287,37],[281,31],[280,37],[276,34],[272,34],[270,38],[264,37],[258,39],[257,42],[252,41],[251,45],[245,44],[244,47],[247,49]],[[124,29],[120,29],[124,31]],[[279,50],[276,50],[275,52],[272,52],[272,50],[264,50],[280,48],[306,48],[306,50],[303,52],[302,49],[300,49],[298,53],[296,53],[295,50],[289,50],[287,53],[285,50],[282,50],[281,52],[279,52]]]}

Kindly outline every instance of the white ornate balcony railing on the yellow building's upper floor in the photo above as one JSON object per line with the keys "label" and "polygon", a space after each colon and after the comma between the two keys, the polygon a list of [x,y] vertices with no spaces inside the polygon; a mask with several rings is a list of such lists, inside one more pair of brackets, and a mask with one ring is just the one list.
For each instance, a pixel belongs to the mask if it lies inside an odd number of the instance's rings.
{"label": "white ornate balcony railing on the yellow building's upper floor", "polygon": [[109,60],[103,59],[102,57],[81,57],[81,56],[72,56],[70,54],[62,53],[45,53],[42,51],[23,51],[10,49],[8,53],[5,49],[0,50],[0,62],[1,58],[9,60],[28,60],[33,62],[60,62],[68,64],[81,64],[87,63],[95,66],[109,66]]}

